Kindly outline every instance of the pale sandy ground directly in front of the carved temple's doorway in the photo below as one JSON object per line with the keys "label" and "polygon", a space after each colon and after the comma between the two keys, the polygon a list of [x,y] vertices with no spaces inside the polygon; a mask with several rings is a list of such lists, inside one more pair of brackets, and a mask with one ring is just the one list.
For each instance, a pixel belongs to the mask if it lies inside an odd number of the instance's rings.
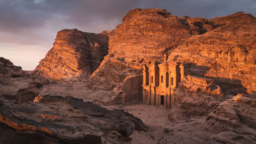
{"label": "pale sandy ground directly in front of the carved temple's doorway", "polygon": [[[148,132],[135,131],[131,135],[133,138],[132,144],[218,144],[218,142],[210,138],[214,133],[203,128],[201,124],[204,121],[203,119],[175,124],[167,120],[168,110],[164,107],[146,104],[102,107],[106,107],[109,110],[115,108],[128,111],[150,127]],[[164,132],[164,128],[169,129],[170,132]]]}

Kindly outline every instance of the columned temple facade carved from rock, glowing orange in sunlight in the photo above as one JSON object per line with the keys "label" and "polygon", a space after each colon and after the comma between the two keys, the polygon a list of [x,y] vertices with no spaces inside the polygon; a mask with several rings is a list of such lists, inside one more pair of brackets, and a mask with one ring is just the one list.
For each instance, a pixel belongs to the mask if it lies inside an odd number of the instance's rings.
{"label": "columned temple facade carved from rock, glowing orange in sunlight", "polygon": [[158,107],[163,105],[166,109],[173,106],[173,93],[183,77],[189,74],[190,69],[186,64],[167,62],[166,59],[167,55],[164,54],[164,62],[143,66],[143,104]]}

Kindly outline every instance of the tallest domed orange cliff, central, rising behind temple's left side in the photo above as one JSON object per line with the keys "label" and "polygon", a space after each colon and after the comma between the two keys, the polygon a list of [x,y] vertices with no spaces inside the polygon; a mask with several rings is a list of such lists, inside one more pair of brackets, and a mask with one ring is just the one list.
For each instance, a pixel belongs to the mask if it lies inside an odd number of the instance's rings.
{"label": "tallest domed orange cliff, central, rising behind temple's left side", "polygon": [[122,24],[108,32],[108,55],[92,74],[89,86],[112,90],[127,76],[141,74],[143,64],[161,61],[164,53],[170,54],[193,33],[200,34],[201,29],[166,10],[130,10]]}

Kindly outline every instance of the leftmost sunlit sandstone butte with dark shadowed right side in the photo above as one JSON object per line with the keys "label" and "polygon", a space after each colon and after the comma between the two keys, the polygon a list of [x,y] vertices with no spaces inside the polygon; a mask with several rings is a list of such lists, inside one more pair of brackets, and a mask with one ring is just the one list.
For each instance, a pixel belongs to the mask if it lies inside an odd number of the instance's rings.
{"label": "leftmost sunlit sandstone butte with dark shadowed right side", "polygon": [[105,34],[63,29],[31,75],[42,83],[86,79],[101,64],[107,49],[108,36]]}

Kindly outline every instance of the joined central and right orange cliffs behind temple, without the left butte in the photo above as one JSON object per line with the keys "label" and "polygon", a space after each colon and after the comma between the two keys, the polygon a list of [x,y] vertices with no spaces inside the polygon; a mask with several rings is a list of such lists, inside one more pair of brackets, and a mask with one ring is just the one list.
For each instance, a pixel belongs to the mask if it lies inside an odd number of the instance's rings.
{"label": "joined central and right orange cliffs behind temple, without the left butte", "polygon": [[160,9],[134,9],[108,33],[109,54],[89,86],[111,90],[142,64],[169,61],[191,66],[193,75],[212,78],[226,94],[255,95],[256,20],[237,12],[213,19],[176,17]]}

